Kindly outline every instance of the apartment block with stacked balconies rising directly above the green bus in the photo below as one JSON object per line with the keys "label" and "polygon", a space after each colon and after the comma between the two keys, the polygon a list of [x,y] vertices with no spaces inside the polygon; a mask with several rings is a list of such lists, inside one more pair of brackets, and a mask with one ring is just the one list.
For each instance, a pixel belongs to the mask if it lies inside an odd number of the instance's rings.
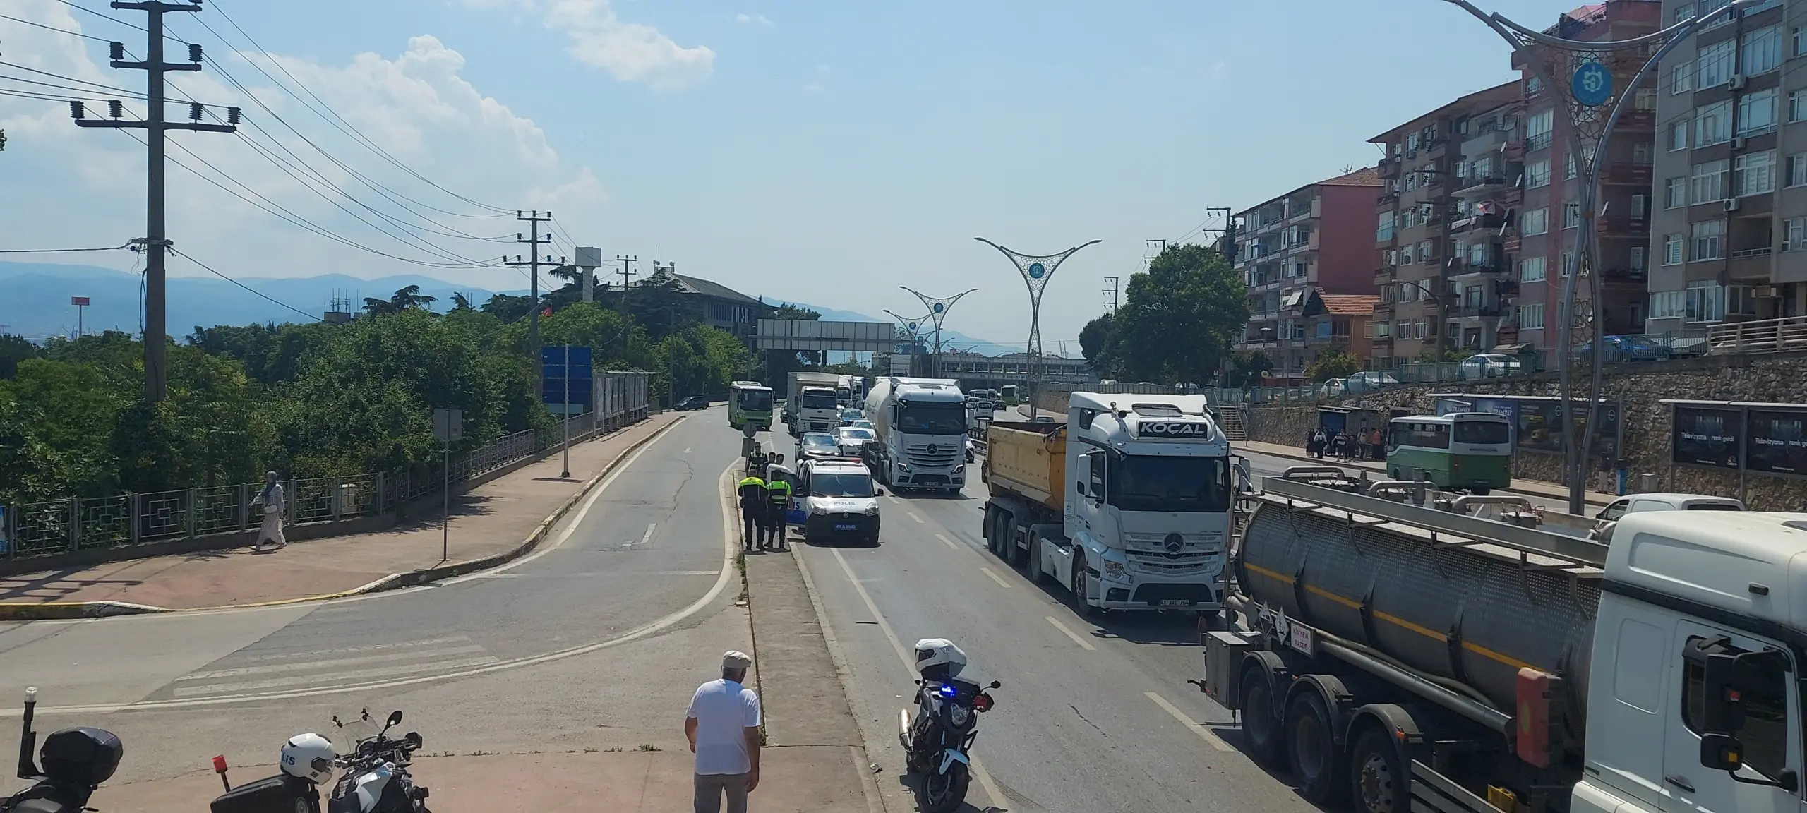
{"label": "apartment block with stacked balconies rising directly above the green bus", "polygon": [[1386,157],[1372,269],[1370,367],[1413,363],[1426,350],[1498,343],[1507,296],[1503,226],[1518,204],[1516,81],[1467,94],[1370,139]]}

